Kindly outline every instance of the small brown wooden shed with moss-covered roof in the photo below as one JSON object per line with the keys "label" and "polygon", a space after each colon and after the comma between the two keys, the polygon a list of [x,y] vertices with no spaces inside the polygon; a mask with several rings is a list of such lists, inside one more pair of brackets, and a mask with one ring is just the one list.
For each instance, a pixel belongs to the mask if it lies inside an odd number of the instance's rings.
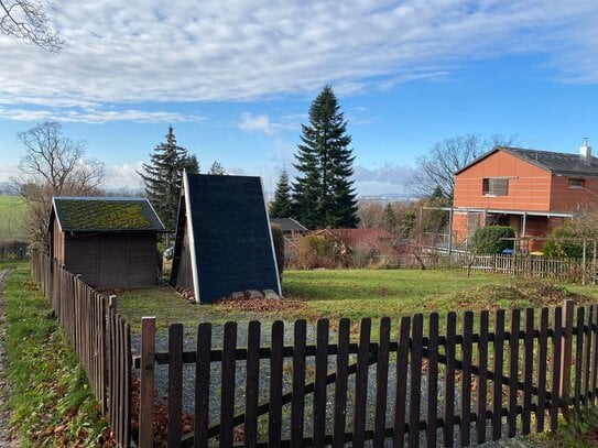
{"label": "small brown wooden shed with moss-covered roof", "polygon": [[156,237],[164,226],[141,197],[54,197],[50,254],[97,288],[157,281]]}

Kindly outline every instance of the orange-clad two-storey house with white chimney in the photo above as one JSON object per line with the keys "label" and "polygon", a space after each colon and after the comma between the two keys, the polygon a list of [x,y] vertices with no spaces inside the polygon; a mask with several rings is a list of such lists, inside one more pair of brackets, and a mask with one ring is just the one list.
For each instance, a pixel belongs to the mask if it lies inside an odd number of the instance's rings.
{"label": "orange-clad two-storey house with white chimney", "polygon": [[480,226],[511,226],[522,250],[541,250],[548,231],[598,198],[598,159],[497,146],[455,173],[452,233],[464,241]]}

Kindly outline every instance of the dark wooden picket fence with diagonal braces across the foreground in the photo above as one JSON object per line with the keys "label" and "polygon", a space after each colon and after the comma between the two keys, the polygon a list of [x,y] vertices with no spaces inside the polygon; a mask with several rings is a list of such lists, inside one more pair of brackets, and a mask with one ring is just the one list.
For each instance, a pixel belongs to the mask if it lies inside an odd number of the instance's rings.
{"label": "dark wooden picket fence with diagonal braces across the foreground", "polygon": [[[259,321],[227,323],[221,347],[213,348],[214,328],[200,324],[196,350],[184,351],[177,324],[168,352],[155,352],[152,320],[143,328],[134,362],[145,396],[154,395],[155,365],[168,364],[168,447],[468,446],[554,430],[559,412],[595,405],[598,392],[598,306],[578,307],[574,319],[572,301],[554,309],[448,313],[442,325],[436,313],[403,317],[395,328],[382,318],[376,340],[367,318],[356,341],[348,319],[334,331],[320,319],[315,343],[306,341],[305,320],[292,334],[282,321],[268,334]],[[240,330],[247,342],[238,347]],[[195,425],[182,434],[187,363],[195,364]],[[151,406],[140,412],[152,420]],[[152,446],[152,437],[140,446]]]}

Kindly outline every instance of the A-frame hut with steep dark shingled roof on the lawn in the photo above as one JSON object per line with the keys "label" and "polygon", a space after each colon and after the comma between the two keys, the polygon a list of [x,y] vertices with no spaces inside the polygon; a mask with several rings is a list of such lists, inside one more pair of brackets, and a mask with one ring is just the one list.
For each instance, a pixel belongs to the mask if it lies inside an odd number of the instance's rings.
{"label": "A-frame hut with steep dark shingled roof on the lawn", "polygon": [[260,177],[185,174],[171,285],[197,303],[281,285]]}

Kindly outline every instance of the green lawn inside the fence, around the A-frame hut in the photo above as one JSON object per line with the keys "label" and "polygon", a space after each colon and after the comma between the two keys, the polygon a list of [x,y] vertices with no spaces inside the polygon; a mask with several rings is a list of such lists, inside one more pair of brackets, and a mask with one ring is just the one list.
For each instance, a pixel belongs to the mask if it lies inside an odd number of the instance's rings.
{"label": "green lawn inside the fence, around the A-frame hut", "polygon": [[159,286],[121,292],[119,313],[139,330],[142,316],[156,316],[159,329],[168,324],[196,326],[199,321],[273,319],[316,320],[328,317],[358,319],[416,313],[525,308],[556,306],[564,298],[595,302],[596,286],[566,285],[540,280],[461,271],[412,270],[320,270],[287,271],[283,276],[282,303],[196,305],[181,298],[172,288]]}

